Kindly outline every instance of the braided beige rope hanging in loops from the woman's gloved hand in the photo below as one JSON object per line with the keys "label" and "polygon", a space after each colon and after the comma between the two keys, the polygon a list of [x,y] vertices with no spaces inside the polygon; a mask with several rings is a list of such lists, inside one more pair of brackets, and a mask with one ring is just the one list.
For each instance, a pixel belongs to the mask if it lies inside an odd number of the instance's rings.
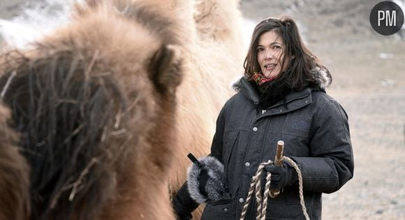
{"label": "braided beige rope hanging in loops from the woman's gloved hand", "polygon": [[[292,159],[288,158],[287,156],[283,156],[281,161],[286,161],[290,166],[292,166],[295,171],[297,172],[298,175],[298,183],[300,184],[300,203],[302,207],[302,213],[304,214],[305,219],[309,220],[309,215],[307,213],[307,208],[305,207],[305,201],[304,201],[304,189],[302,186],[302,174],[300,168],[298,168],[297,163],[295,163]],[[274,162],[269,160],[267,162],[260,163],[258,166],[258,170],[256,171],[256,174],[253,175],[251,184],[249,187],[249,191],[247,194],[246,202],[244,203],[244,206],[242,208],[242,214],[240,216],[240,220],[244,220],[246,217],[246,212],[247,209],[251,203],[251,199],[253,196],[253,193],[256,191],[255,196],[256,196],[256,202],[258,203],[258,208],[256,212],[256,220],[265,220],[266,218],[266,210],[267,210],[267,200],[270,196],[270,179],[272,177],[271,173],[267,173],[266,177],[266,184],[265,184],[265,192],[264,195],[262,196],[260,193],[260,176],[263,173],[263,169],[265,166],[273,165]],[[270,196],[271,197],[271,196]]]}

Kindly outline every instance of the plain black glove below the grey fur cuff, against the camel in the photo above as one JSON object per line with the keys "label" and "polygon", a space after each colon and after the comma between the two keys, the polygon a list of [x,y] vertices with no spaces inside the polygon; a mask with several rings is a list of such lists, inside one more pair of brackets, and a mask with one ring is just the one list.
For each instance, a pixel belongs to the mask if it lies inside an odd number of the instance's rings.
{"label": "plain black glove below the grey fur cuff, against the camel", "polygon": [[198,203],[190,197],[189,190],[187,189],[187,182],[183,184],[173,197],[172,205],[177,220],[189,220],[193,218],[191,212],[196,210]]}

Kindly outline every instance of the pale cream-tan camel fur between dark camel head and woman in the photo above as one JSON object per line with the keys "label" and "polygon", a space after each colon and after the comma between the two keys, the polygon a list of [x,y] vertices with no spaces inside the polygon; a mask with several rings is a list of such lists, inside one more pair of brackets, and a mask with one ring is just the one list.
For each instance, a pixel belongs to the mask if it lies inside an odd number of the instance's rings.
{"label": "pale cream-tan camel fur between dark camel head and woman", "polygon": [[[245,55],[240,34],[242,15],[238,10],[239,1],[190,2],[177,1],[183,8],[190,8],[180,10],[178,14],[193,22],[182,26],[187,33],[182,39],[189,43],[182,45],[186,51],[185,75],[177,93],[178,114],[182,120],[177,124],[180,153],[170,175],[174,191],[184,183],[186,170],[191,165],[186,155],[190,152],[198,157],[209,154],[216,117],[233,94],[228,85],[242,74]],[[201,212],[202,206],[194,212],[194,219],[200,219]]]}

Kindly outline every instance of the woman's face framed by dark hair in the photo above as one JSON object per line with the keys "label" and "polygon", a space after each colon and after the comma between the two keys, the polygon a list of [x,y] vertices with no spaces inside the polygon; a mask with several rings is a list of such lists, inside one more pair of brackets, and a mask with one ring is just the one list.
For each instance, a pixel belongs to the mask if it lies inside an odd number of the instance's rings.
{"label": "woman's face framed by dark hair", "polygon": [[[285,56],[285,45],[275,31],[267,31],[259,37],[257,59],[260,69],[267,78],[275,78],[286,69],[290,57]],[[286,63],[283,64],[284,59]]]}

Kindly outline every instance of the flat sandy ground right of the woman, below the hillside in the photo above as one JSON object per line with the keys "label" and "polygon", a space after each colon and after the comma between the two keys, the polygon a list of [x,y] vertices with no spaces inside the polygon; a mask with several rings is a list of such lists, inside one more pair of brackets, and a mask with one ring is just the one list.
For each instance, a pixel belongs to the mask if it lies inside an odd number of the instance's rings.
{"label": "flat sandy ground right of the woman, below the hillside", "polygon": [[[335,82],[328,93],[349,115],[355,175],[323,197],[323,217],[405,219],[405,43],[356,47],[363,47],[358,54],[343,50],[329,56]],[[381,51],[392,58],[381,59]]]}

